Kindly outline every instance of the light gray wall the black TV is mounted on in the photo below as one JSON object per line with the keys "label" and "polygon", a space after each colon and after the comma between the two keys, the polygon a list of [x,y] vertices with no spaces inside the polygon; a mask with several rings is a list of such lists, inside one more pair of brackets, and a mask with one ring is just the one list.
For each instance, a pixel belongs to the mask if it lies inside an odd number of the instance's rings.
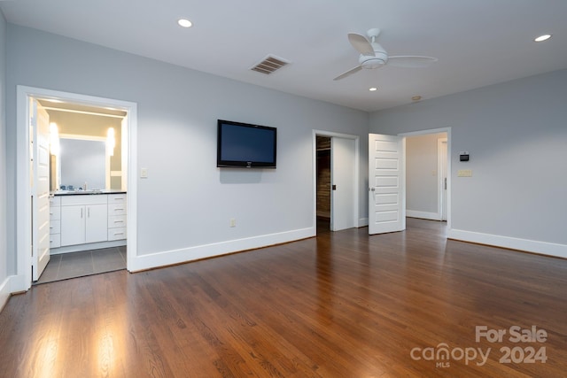
{"label": "light gray wall the black TV is mounted on", "polygon": [[[17,85],[137,104],[138,167],[148,169],[148,179],[137,184],[138,255],[315,232],[312,129],[361,136],[359,210],[368,216],[368,113],[27,27],[9,24],[7,35],[9,125],[15,125]],[[277,169],[217,168],[217,119],[277,127]],[[9,127],[9,225],[17,212],[15,135]],[[231,218],[236,228],[229,228]],[[8,231],[14,251],[13,226]]]}

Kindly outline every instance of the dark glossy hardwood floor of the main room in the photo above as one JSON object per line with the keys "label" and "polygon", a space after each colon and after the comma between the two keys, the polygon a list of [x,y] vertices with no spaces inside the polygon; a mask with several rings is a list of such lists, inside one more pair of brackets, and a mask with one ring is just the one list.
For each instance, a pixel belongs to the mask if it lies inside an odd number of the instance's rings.
{"label": "dark glossy hardwood floor of the main room", "polygon": [[321,229],[38,285],[0,313],[0,375],[567,376],[567,260],[445,232],[413,219],[386,235]]}

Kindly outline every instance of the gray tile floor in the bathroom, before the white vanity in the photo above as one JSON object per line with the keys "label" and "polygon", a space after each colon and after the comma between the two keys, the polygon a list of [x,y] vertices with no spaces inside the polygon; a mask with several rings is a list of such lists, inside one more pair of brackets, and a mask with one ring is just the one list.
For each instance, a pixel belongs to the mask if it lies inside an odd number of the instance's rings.
{"label": "gray tile floor in the bathroom, before the white vanity", "polygon": [[40,283],[126,269],[126,246],[51,255]]}

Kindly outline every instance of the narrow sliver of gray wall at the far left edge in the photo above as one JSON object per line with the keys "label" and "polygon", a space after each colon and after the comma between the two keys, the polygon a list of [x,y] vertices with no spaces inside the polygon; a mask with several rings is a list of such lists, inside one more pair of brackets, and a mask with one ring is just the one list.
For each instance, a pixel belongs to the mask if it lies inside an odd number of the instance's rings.
{"label": "narrow sliver of gray wall at the far left edge", "polygon": [[[6,82],[6,20],[4,13],[0,12],[0,287],[8,277],[8,256],[6,244],[6,113],[5,113],[5,82]],[[1,296],[0,296],[1,297]],[[0,300],[0,307],[3,305]]]}

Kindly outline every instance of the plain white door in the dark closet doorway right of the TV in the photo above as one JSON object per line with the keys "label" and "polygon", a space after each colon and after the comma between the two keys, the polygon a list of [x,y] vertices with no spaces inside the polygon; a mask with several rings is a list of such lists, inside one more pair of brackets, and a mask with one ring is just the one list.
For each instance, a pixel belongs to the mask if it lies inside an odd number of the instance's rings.
{"label": "plain white door in the dark closet doorway right of the TV", "polygon": [[330,139],[330,230],[357,227],[354,173],[354,139],[333,136]]}

